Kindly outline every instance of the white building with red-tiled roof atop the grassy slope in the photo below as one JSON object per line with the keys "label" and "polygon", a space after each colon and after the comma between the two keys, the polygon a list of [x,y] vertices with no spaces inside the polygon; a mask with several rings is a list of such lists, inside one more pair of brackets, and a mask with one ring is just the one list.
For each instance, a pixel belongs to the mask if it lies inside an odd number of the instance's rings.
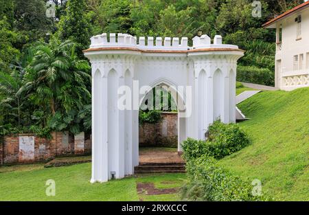
{"label": "white building with red-tiled roof atop the grassy slope", "polygon": [[309,87],[309,1],[263,26],[276,29],[275,87]]}

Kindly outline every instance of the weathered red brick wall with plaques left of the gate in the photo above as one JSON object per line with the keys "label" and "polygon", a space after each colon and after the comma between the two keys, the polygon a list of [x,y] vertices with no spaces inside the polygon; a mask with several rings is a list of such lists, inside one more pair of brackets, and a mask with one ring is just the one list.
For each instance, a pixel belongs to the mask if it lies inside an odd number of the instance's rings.
{"label": "weathered red brick wall with plaques left of the gate", "polygon": [[84,144],[75,149],[74,135],[53,132],[52,139],[33,134],[19,134],[0,138],[0,165],[10,163],[43,162],[67,155],[91,154],[91,135],[84,135]]}

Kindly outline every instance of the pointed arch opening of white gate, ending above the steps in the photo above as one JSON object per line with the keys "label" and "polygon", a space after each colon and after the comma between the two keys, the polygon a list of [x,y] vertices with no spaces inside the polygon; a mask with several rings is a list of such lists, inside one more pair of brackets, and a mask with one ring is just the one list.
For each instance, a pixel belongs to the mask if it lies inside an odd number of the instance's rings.
{"label": "pointed arch opening of white gate, ending above the steps", "polygon": [[[165,79],[152,82],[145,91],[139,100],[140,161],[146,155],[152,157],[153,161],[159,159],[160,155],[172,156],[171,159],[181,161],[178,152],[186,139],[186,118],[180,117],[179,111],[185,111],[185,95],[170,80]],[[161,116],[156,120],[158,113]],[[149,151],[148,146],[153,150]],[[165,153],[166,150],[170,152]]]}

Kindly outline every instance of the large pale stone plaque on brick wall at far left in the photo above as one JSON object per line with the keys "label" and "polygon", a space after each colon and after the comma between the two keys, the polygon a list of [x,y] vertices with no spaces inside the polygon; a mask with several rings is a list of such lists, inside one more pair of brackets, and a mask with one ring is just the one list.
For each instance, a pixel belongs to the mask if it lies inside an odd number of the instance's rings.
{"label": "large pale stone plaque on brick wall at far left", "polygon": [[19,136],[19,160],[34,160],[34,136]]}

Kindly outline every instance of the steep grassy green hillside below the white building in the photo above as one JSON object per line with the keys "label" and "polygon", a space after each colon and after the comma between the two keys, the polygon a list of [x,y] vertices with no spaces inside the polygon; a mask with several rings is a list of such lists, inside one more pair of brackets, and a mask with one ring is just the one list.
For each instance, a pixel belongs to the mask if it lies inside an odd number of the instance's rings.
{"label": "steep grassy green hillside below the white building", "polygon": [[238,105],[253,140],[220,163],[241,177],[260,179],[275,200],[309,201],[309,88],[265,91]]}

